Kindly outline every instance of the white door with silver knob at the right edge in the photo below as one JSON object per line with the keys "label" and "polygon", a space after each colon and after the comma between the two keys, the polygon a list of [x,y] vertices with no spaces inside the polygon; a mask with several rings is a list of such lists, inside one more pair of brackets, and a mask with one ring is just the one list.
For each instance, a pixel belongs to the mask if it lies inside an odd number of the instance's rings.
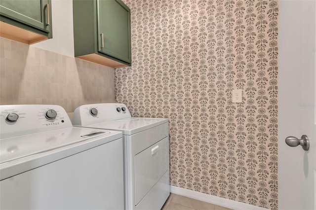
{"label": "white door with silver knob at the right edge", "polygon": [[[315,34],[316,0],[279,0],[279,210],[316,210]],[[309,151],[285,144],[302,135]]]}

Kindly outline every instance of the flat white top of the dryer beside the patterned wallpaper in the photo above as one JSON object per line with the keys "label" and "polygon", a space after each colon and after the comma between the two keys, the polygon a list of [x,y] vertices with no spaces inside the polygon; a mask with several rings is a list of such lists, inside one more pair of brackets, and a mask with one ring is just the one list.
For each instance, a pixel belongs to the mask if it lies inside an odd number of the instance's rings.
{"label": "flat white top of the dryer beside the patterned wallpaper", "polygon": [[96,129],[109,129],[121,131],[123,135],[133,135],[147,129],[156,127],[163,123],[168,123],[166,118],[142,118],[142,117],[129,117],[119,120],[107,121],[103,123],[96,123],[86,125],[88,128]]}

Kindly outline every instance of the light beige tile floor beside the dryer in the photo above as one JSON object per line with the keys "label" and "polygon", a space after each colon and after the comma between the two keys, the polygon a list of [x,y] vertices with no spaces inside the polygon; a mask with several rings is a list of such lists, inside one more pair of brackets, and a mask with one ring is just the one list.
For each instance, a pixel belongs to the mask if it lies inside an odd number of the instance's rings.
{"label": "light beige tile floor beside the dryer", "polygon": [[230,210],[214,204],[170,193],[161,210]]}

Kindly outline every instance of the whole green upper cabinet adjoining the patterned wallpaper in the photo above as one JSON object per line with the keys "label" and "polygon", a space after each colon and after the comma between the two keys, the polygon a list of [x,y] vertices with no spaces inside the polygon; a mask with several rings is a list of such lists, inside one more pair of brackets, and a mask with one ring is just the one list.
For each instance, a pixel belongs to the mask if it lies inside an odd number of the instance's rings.
{"label": "whole green upper cabinet adjoining the patterned wallpaper", "polygon": [[118,68],[131,65],[130,9],[121,0],[73,0],[75,56]]}

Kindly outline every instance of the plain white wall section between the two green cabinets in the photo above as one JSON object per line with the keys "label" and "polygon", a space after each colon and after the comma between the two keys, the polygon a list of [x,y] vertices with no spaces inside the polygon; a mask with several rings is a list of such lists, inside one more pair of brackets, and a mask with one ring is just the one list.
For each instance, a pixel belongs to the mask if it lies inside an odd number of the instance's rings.
{"label": "plain white wall section between the two green cabinets", "polygon": [[74,57],[73,0],[51,0],[53,38],[33,44]]}

